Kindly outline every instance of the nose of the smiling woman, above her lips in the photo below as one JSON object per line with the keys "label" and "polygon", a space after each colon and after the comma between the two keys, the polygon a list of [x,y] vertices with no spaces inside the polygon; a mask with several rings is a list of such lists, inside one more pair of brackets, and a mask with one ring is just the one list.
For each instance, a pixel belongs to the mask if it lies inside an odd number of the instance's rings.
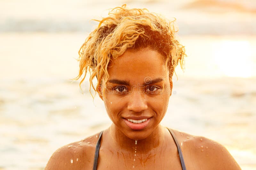
{"label": "nose of the smiling woman, above her lips", "polygon": [[134,112],[141,112],[148,109],[144,94],[134,90],[132,94],[130,94],[127,109]]}

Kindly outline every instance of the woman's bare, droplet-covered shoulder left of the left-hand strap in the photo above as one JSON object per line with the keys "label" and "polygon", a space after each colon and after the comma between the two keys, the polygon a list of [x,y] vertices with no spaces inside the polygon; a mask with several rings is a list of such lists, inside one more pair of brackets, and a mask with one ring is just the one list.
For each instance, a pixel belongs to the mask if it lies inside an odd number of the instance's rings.
{"label": "woman's bare, droplet-covered shoulder left of the left-hand strap", "polygon": [[56,150],[45,170],[92,169],[99,133]]}

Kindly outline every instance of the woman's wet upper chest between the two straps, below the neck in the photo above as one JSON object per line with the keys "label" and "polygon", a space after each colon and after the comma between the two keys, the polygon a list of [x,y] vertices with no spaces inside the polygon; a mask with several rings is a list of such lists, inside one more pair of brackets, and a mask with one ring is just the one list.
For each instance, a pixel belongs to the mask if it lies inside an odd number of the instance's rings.
{"label": "woman's wet upper chest between the two straps, below the neck", "polygon": [[100,152],[97,170],[101,169],[174,169],[182,170],[177,151],[132,154],[125,152]]}

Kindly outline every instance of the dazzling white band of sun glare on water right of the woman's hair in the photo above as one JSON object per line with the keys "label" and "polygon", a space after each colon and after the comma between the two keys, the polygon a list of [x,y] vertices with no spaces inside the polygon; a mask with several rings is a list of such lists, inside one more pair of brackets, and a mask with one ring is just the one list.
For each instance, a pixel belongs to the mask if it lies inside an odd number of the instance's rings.
{"label": "dazzling white band of sun glare on water right of the woman's hair", "polygon": [[188,54],[185,76],[256,77],[253,36],[189,36],[182,42]]}

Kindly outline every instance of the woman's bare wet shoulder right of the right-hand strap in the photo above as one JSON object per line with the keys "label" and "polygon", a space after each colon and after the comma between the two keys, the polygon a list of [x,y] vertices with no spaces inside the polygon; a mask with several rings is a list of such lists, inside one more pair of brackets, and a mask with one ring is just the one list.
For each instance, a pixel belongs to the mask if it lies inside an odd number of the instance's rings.
{"label": "woman's bare wet shoulder right of the right-hand strap", "polygon": [[188,167],[197,166],[201,167],[201,169],[212,170],[241,169],[228,150],[220,143],[205,137],[193,136],[177,130],[173,130],[173,132],[180,145],[182,145],[181,148],[186,166],[188,164]]}

